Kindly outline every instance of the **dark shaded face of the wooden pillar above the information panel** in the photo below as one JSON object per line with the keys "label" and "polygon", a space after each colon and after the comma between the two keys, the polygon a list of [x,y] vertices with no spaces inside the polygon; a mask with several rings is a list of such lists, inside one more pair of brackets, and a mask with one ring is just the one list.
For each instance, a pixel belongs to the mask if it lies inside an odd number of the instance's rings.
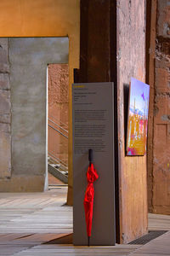
{"label": "dark shaded face of the wooden pillar above the information panel", "polygon": [[111,1],[81,1],[80,69],[75,80],[111,80]]}

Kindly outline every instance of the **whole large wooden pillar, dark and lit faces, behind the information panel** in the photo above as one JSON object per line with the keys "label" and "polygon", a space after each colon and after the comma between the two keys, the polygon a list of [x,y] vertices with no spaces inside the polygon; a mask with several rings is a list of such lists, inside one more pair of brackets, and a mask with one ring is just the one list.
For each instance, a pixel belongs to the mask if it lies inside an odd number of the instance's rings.
{"label": "whole large wooden pillar, dark and lit faces, behind the information panel", "polygon": [[147,232],[146,157],[126,157],[124,87],[145,82],[145,2],[81,1],[80,69],[75,82],[115,84],[116,242]]}

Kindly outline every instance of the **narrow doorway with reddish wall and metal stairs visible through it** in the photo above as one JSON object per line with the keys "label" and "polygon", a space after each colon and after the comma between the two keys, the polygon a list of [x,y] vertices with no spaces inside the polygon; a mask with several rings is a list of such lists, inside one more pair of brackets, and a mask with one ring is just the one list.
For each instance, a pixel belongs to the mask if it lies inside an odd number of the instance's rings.
{"label": "narrow doorway with reddish wall and metal stairs visible through it", "polygon": [[68,183],[68,64],[48,65],[48,186]]}

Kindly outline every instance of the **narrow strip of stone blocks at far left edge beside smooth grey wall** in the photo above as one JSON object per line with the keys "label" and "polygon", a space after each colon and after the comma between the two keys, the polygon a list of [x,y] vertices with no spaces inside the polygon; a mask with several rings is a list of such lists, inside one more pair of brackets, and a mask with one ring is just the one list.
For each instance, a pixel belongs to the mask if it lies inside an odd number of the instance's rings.
{"label": "narrow strip of stone blocks at far left edge beside smooth grey wall", "polygon": [[11,176],[11,102],[8,38],[0,38],[0,178]]}

